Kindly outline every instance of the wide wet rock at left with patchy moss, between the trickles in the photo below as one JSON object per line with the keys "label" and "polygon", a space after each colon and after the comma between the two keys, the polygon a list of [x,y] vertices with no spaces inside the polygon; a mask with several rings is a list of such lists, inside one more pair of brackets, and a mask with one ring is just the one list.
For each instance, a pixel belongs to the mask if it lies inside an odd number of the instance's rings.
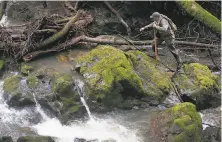
{"label": "wide wet rock at left with patchy moss, between the trickles", "polygon": [[56,115],[63,123],[86,114],[77,90],[73,89],[70,74],[42,68],[25,77],[8,77],[3,86],[5,99],[10,107],[35,105],[36,99],[44,109]]}

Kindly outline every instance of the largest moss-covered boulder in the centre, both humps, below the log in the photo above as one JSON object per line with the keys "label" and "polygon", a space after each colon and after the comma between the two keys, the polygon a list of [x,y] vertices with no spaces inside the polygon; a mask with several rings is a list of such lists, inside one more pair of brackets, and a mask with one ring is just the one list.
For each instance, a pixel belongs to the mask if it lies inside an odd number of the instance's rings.
{"label": "largest moss-covered boulder in the centre, both humps, below the log", "polygon": [[171,88],[166,74],[145,54],[124,53],[112,46],[97,46],[79,57],[76,70],[89,87],[88,95],[106,106],[129,108],[139,105],[141,98],[159,100]]}

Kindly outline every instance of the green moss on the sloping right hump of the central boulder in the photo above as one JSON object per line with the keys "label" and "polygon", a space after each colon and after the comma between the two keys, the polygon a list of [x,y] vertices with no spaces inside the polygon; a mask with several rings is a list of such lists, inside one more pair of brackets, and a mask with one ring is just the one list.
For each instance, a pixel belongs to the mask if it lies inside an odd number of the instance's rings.
{"label": "green moss on the sloping right hump of the central boulder", "polygon": [[[169,92],[171,81],[166,72],[161,71],[155,65],[155,60],[140,51],[128,51],[127,56],[131,59],[134,69],[147,86],[147,91],[151,95],[159,95]],[[167,94],[167,93],[166,93]]]}

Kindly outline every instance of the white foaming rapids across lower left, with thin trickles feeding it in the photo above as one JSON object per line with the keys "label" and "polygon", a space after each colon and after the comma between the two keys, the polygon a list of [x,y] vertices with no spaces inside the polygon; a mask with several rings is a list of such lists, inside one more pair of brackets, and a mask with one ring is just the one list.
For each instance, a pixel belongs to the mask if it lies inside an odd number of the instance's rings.
{"label": "white foaming rapids across lower left, with thin trickles feeding it", "polygon": [[[22,85],[24,85],[22,80]],[[119,124],[113,118],[97,118],[93,116],[89,107],[81,96],[82,103],[87,109],[90,119],[86,122],[76,121],[66,126],[62,125],[57,118],[50,118],[42,110],[40,104],[35,99],[36,107],[29,109],[16,110],[9,108],[3,97],[3,81],[0,81],[0,136],[10,135],[19,137],[20,130],[24,127],[30,128],[38,135],[51,136],[56,142],[73,142],[76,138],[85,140],[96,140],[98,142],[105,140],[114,140],[116,142],[141,142],[136,135],[136,131],[130,130]],[[79,86],[82,89],[83,86]],[[34,124],[30,121],[36,115],[41,115],[41,122]],[[13,132],[15,134],[13,135]],[[20,135],[21,136],[21,135]]]}

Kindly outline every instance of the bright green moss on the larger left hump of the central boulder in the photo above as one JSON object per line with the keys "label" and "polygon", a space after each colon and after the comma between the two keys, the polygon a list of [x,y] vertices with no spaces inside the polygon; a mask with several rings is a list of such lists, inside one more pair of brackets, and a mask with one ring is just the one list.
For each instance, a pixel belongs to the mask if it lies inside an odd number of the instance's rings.
{"label": "bright green moss on the larger left hump of the central boulder", "polygon": [[[88,55],[78,58],[77,63],[81,64],[80,73],[94,90],[109,92],[114,83],[128,81],[129,85],[144,91],[142,80],[133,70],[124,52],[112,46],[97,46]],[[100,93],[97,97],[100,96],[104,95]]]}

